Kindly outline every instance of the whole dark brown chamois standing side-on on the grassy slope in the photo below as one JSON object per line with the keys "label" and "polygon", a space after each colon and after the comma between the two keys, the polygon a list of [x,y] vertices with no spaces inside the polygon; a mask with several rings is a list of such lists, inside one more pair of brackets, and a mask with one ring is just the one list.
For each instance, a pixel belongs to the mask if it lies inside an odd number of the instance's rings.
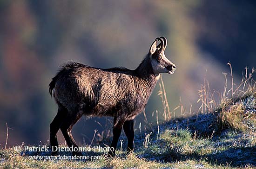
{"label": "whole dark brown chamois standing side-on on the grassy slope", "polygon": [[[69,147],[78,147],[71,129],[82,115],[111,116],[114,117],[114,126],[110,147],[114,149],[108,154],[115,156],[122,128],[128,139],[127,153],[131,152],[135,116],[146,106],[160,73],[173,74],[176,68],[164,54],[166,46],[166,38],[156,38],[135,70],[100,69],[75,62],[62,65],[49,84],[49,92],[58,105],[57,115],[50,124],[51,147],[58,146],[59,129]],[[52,155],[56,154],[52,151]],[[80,151],[72,154],[81,156]]]}

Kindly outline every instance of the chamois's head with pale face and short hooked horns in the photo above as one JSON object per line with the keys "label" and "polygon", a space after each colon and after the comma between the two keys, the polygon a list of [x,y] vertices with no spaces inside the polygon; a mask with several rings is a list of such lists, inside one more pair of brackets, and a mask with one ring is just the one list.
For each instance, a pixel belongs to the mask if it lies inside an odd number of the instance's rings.
{"label": "chamois's head with pale face and short hooked horns", "polygon": [[[160,44],[156,45],[160,41]],[[156,38],[149,49],[149,58],[155,75],[160,73],[173,74],[176,66],[168,60],[164,55],[164,50],[167,46],[167,39],[165,37]]]}

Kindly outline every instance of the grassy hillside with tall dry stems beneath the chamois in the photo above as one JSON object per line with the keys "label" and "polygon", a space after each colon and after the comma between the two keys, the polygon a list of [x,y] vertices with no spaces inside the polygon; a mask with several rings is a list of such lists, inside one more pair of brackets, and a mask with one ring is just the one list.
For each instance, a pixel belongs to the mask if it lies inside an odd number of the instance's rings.
{"label": "grassy hillside with tall dry stems beneath the chamois", "polygon": [[[170,110],[163,110],[167,114],[164,116],[166,120],[159,123],[157,119],[155,125],[148,123],[145,131],[137,131],[135,151],[128,156],[126,140],[122,151],[118,147],[113,159],[97,150],[83,153],[84,156],[102,156],[100,160],[34,160],[31,156],[49,156],[50,152],[24,153],[13,147],[0,150],[0,168],[256,168],[256,84],[251,75],[236,88],[235,85],[231,85],[230,90],[225,87],[219,104],[210,97],[206,86],[199,91],[198,102],[202,105],[198,112],[183,113],[181,118],[171,119],[168,118]],[[163,106],[168,108],[163,88],[159,94]],[[101,143],[109,143],[109,138]],[[62,155],[70,153],[63,152]]]}

